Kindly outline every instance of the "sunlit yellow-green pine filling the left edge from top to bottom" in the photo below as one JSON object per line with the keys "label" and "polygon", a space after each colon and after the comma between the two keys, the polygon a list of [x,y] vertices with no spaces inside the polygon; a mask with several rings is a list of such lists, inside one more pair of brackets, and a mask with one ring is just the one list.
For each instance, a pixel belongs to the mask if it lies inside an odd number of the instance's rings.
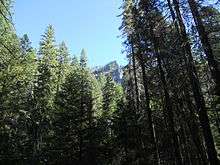
{"label": "sunlit yellow-green pine filling the left edge from top to bottom", "polygon": [[[11,1],[0,2],[0,136],[2,164],[22,160],[27,140],[24,115],[32,60],[25,60],[11,20]],[[34,55],[33,55],[34,56]]]}

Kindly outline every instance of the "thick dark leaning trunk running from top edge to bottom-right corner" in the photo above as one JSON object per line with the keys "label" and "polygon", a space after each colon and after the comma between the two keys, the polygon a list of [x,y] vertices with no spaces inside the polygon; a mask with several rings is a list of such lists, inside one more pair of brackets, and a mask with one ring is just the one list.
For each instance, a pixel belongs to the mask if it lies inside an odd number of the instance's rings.
{"label": "thick dark leaning trunk running from top edge to bottom-right corner", "polygon": [[210,124],[209,124],[209,118],[208,118],[207,109],[205,106],[205,100],[202,95],[199,79],[198,79],[197,72],[196,72],[196,69],[193,63],[191,46],[188,41],[186,28],[185,28],[185,25],[183,23],[182,16],[180,13],[179,2],[177,0],[173,0],[173,4],[174,4],[175,11],[176,11],[176,17],[174,18],[177,19],[178,24],[179,24],[179,32],[180,32],[180,37],[181,37],[180,39],[181,39],[182,45],[184,46],[184,52],[185,52],[185,55],[183,57],[184,57],[184,61],[187,66],[187,73],[190,78],[190,83],[192,86],[193,95],[194,95],[197,110],[198,110],[199,121],[200,121],[202,130],[203,130],[208,158],[209,158],[211,165],[214,165],[214,164],[216,165],[218,164],[217,152],[215,149],[214,139],[213,139]]}

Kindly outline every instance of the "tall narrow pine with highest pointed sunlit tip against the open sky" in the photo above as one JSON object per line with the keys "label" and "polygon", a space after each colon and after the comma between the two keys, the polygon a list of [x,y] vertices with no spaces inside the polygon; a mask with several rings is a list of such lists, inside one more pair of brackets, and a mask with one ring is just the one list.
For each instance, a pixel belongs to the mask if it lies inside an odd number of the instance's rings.
{"label": "tall narrow pine with highest pointed sunlit tip against the open sky", "polygon": [[[39,162],[46,145],[53,102],[58,85],[58,55],[55,46],[54,29],[48,26],[40,42],[37,81],[34,87],[34,106],[31,112],[33,127],[33,161]],[[36,159],[36,160],[35,160]]]}

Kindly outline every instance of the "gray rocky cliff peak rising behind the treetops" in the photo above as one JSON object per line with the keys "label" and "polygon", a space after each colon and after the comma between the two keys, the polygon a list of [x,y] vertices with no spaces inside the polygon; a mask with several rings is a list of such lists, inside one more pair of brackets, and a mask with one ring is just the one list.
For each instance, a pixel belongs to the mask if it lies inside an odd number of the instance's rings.
{"label": "gray rocky cliff peak rising behind the treetops", "polygon": [[116,61],[112,61],[103,67],[95,67],[93,73],[96,77],[110,75],[116,83],[122,83],[122,67]]}

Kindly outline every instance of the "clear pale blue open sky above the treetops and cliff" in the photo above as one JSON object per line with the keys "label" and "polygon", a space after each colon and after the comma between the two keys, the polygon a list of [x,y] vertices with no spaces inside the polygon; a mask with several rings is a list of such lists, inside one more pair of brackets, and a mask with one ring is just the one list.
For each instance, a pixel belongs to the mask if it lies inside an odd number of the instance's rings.
{"label": "clear pale blue open sky above the treetops and cliff", "polygon": [[48,24],[56,32],[57,43],[65,41],[71,54],[87,51],[90,66],[117,60],[126,64],[118,30],[122,0],[15,0],[17,33],[28,34],[37,48]]}

